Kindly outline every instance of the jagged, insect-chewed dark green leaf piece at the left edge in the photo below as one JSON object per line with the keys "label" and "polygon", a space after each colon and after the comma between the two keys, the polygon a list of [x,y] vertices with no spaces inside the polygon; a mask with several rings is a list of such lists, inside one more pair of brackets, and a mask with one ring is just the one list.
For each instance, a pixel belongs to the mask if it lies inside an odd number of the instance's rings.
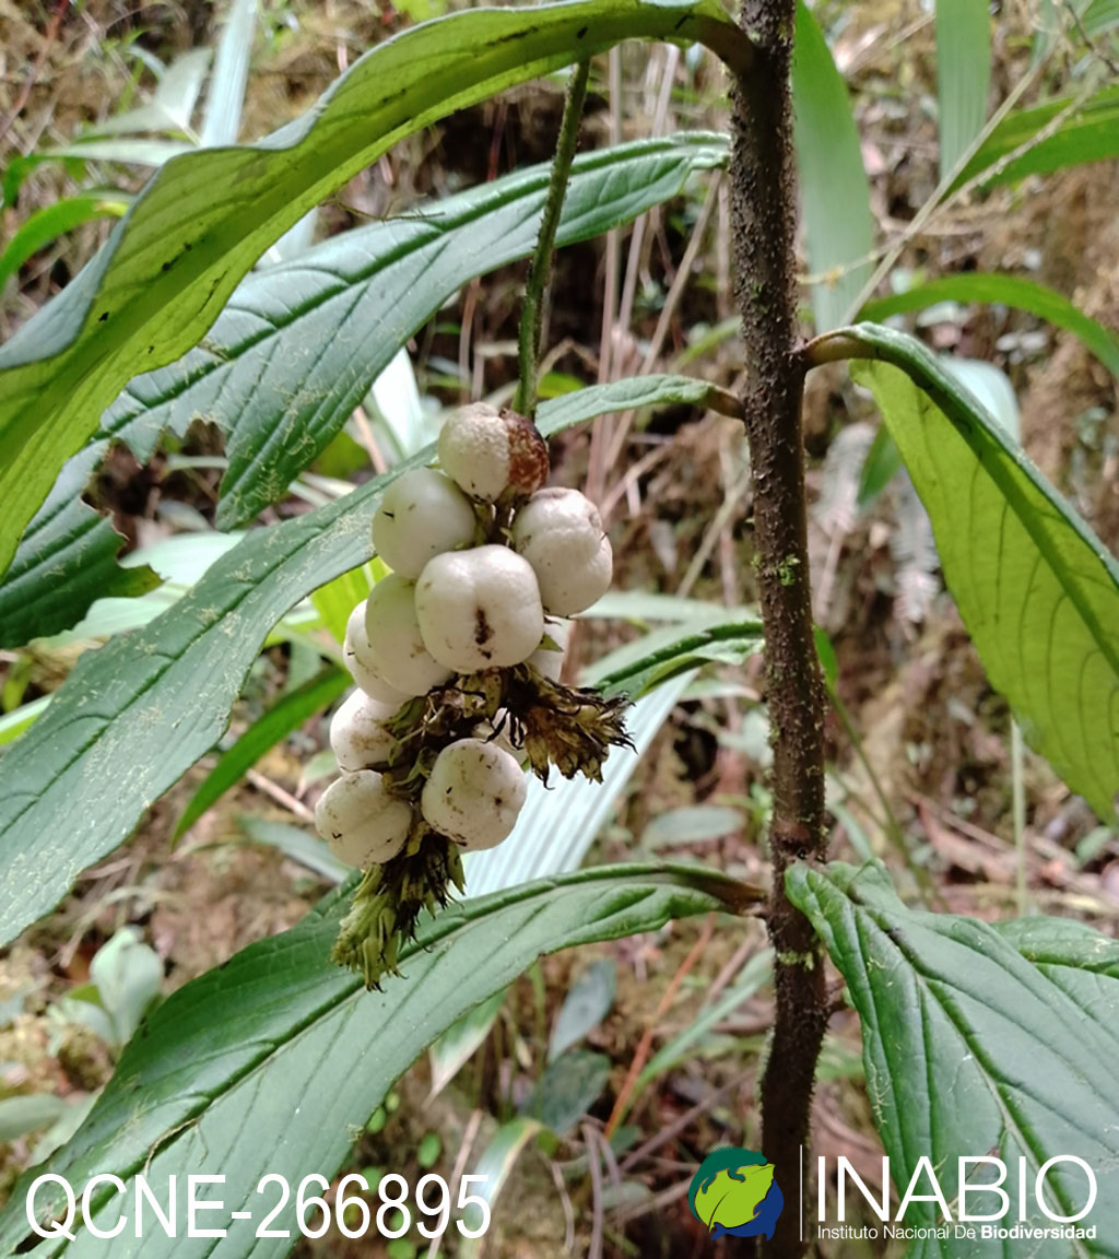
{"label": "jagged, insect-chewed dark green leaf piece at the left edge", "polygon": [[160,584],[146,564],[121,568],[125,539],[82,501],[101,449],[87,447],[62,471],[0,584],[0,647],[69,630],[94,599],[132,598]]}

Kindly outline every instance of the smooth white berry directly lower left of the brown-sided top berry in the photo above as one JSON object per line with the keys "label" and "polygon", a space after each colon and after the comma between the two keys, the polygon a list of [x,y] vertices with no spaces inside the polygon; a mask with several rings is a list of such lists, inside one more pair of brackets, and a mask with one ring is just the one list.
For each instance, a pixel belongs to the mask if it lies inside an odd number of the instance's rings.
{"label": "smooth white berry directly lower left of the brown-sided top berry", "polygon": [[467,496],[434,468],[412,468],[384,492],[373,517],[373,545],[400,577],[415,580],[443,551],[470,546],[477,519]]}

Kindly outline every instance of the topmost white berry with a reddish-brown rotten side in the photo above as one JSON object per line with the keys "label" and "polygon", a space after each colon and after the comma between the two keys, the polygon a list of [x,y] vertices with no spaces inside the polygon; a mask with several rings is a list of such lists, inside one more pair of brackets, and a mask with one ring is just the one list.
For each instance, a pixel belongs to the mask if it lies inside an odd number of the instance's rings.
{"label": "topmost white berry with a reddish-brown rotten side", "polygon": [[473,403],[439,431],[439,463],[472,499],[526,499],[548,477],[548,447],[524,415]]}

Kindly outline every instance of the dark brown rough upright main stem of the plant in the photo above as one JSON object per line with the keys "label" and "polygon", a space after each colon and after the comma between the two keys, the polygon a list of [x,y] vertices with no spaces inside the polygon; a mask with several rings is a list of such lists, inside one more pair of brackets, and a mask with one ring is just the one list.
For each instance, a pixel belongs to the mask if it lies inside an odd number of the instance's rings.
{"label": "dark brown rough upright main stem of the plant", "polygon": [[[824,856],[823,676],[812,633],[797,331],[797,223],[789,89],[794,0],[744,0],[740,24],[755,57],[734,86],[731,223],[735,296],[743,316],[745,423],[754,539],[765,627],[773,731],[773,891],[777,953],[773,1041],[762,1081],[765,1157],[789,1195],[799,1181],[816,1060],[827,1024],[823,953],[784,889],[785,869]],[[798,1256],[801,1221],[785,1210],[768,1248]]]}

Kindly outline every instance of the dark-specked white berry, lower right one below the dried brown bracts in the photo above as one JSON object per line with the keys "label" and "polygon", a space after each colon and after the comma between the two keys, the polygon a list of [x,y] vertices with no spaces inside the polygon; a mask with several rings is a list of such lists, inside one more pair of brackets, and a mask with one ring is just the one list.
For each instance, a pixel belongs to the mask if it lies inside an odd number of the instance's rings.
{"label": "dark-specked white berry, lower right one below the dried brown bracts", "polygon": [[420,811],[433,830],[464,849],[492,849],[509,837],[526,794],[525,776],[507,752],[459,739],[436,758]]}

